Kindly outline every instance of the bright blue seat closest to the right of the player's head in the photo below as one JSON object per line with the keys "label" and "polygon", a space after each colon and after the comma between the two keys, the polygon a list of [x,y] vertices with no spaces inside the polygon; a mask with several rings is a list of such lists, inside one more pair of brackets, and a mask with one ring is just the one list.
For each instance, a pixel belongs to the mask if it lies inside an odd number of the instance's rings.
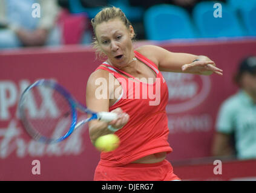
{"label": "bright blue seat closest to the right of the player's head", "polygon": [[148,8],[144,14],[145,34],[148,40],[194,38],[189,14],[176,5],[160,4]]}

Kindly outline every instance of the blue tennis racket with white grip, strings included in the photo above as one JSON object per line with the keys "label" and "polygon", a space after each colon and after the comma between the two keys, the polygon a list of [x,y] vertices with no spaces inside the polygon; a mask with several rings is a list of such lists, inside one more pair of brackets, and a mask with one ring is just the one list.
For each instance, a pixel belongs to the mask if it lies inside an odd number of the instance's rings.
{"label": "blue tennis racket with white grip, strings included", "polygon": [[[105,122],[117,119],[116,113],[96,113],[88,109],[53,80],[42,79],[28,86],[21,95],[18,108],[28,134],[47,144],[63,141],[93,119]],[[90,118],[77,122],[77,110],[90,114]]]}

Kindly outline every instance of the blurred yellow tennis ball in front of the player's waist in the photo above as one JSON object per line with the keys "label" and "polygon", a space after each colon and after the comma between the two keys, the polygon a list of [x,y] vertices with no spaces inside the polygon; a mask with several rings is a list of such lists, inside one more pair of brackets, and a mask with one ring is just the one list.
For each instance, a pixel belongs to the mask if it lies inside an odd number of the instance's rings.
{"label": "blurred yellow tennis ball in front of the player's waist", "polygon": [[120,139],[116,134],[106,134],[96,139],[95,147],[99,151],[109,152],[119,147]]}

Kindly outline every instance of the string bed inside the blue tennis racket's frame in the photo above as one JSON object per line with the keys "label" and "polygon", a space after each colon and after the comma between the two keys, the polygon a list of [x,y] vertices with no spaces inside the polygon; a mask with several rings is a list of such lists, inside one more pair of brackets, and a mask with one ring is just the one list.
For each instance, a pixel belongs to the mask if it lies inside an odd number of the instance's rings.
{"label": "string bed inside the blue tennis racket's frame", "polygon": [[70,129],[70,103],[57,90],[36,86],[29,90],[24,101],[24,122],[34,138],[59,139]]}

